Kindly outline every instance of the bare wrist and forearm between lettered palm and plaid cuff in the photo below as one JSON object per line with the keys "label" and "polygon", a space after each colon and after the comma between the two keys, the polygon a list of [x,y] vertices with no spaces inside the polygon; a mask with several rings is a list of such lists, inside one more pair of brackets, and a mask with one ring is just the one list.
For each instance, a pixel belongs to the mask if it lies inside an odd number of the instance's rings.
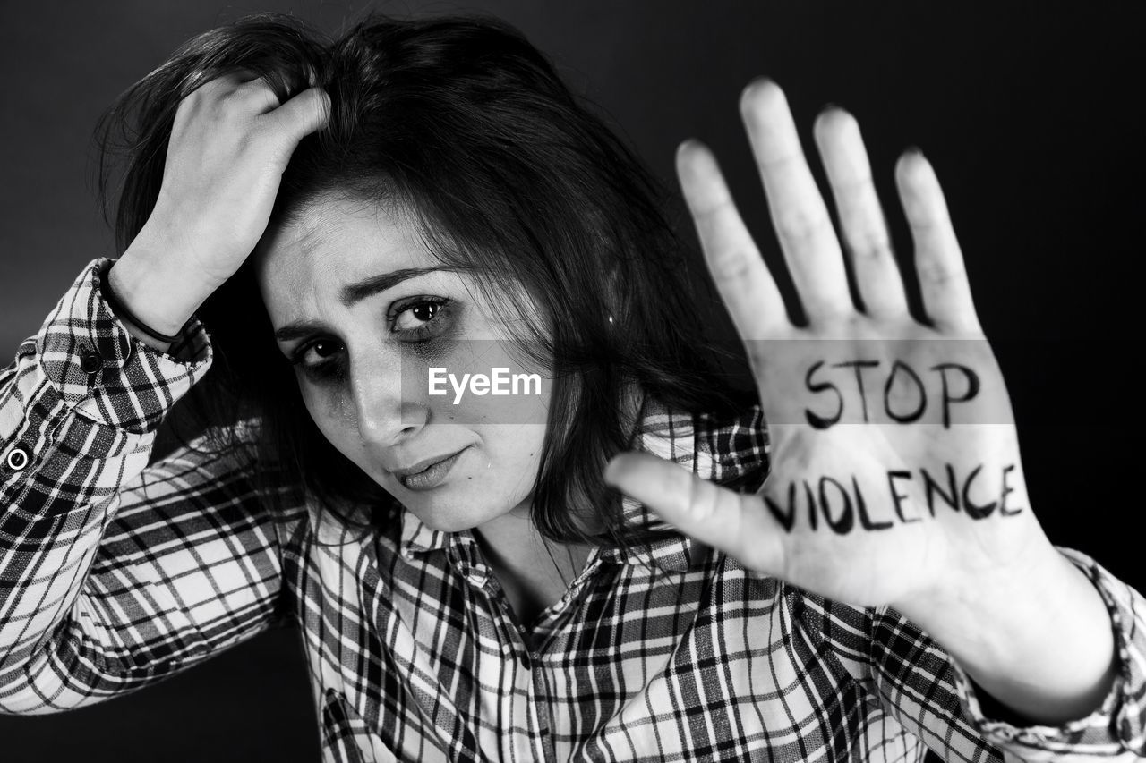
{"label": "bare wrist and forearm between lettered palm and plaid cuff", "polygon": [[1114,632],[1101,595],[1049,543],[1026,574],[935,597],[904,614],[1028,723],[1085,717],[1115,679]]}

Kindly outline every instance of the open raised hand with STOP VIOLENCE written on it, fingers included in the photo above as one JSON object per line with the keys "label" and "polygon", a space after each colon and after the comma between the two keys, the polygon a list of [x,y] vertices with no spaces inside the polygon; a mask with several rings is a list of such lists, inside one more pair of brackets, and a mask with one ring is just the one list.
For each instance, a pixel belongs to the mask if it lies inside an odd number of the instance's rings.
{"label": "open raised hand with STOP VIOLENCE written on it, fingers included", "polygon": [[1010,400],[931,165],[911,151],[895,168],[925,323],[909,314],[855,119],[829,109],[815,125],[841,246],[784,93],[756,81],[741,113],[807,325],[788,320],[712,154],[686,142],[677,171],[758,383],[770,477],[737,494],[622,454],[606,479],[745,566],[854,605],[923,616],[1029,580],[1053,546],[1027,502]]}

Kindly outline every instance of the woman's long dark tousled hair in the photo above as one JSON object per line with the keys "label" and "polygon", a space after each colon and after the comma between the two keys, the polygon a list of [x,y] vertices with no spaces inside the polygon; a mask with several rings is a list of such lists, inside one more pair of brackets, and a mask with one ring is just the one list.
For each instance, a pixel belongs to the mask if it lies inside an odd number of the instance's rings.
{"label": "woman's long dark tousled hair", "polygon": [[[330,41],[292,17],[248,16],[186,42],[101,119],[105,217],[111,159],[127,155],[119,251],[155,204],[179,102],[236,69],[266,77],[280,101],[314,72],[331,97],[327,127],[292,155],[270,226],[330,192],[398,203],[434,255],[476,275],[484,291],[504,300],[505,284],[520,284],[544,305],[548,327],[510,294],[523,344],[544,347],[559,367],[533,519],[555,541],[649,542],[650,532],[621,532],[619,496],[602,479],[633,434],[620,415],[626,384],[694,412],[731,412],[745,398],[694,320],[690,285],[701,278],[690,277],[696,265],[666,197],[634,154],[504,22],[370,15]],[[346,506],[368,506],[364,526],[392,525],[397,502],[306,415],[260,309],[252,259],[197,312],[215,361],[180,403],[185,415],[217,448],[240,447],[228,440],[231,425],[257,418],[252,447],[267,487],[297,475],[343,521],[355,524]],[[588,533],[584,517],[607,529]]]}

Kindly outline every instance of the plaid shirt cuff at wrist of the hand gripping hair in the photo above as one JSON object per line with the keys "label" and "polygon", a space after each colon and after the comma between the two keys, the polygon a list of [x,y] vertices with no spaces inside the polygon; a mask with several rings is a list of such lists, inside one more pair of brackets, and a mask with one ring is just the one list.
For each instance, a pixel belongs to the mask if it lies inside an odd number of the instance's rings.
{"label": "plaid shirt cuff at wrist of the hand gripping hair", "polygon": [[103,274],[113,262],[101,257],[84,268],[36,344],[64,404],[97,424],[147,433],[206,373],[211,337],[196,316],[166,353],[132,336],[103,298]]}

